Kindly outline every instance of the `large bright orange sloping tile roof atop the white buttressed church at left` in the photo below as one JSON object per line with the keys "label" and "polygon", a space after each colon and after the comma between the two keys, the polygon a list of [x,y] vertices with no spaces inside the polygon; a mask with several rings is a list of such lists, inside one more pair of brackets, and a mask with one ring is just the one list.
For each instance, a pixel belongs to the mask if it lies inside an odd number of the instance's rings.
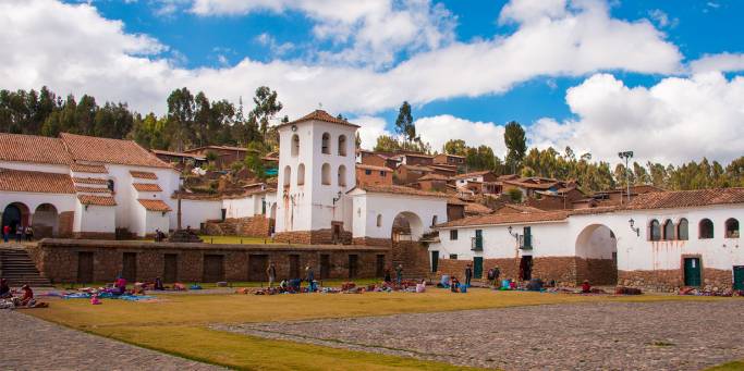
{"label": "large bright orange sloping tile roof atop the white buttressed church at left", "polygon": [[60,134],[60,138],[68,152],[76,161],[170,168],[168,163],[132,140],[98,138],[69,133]]}

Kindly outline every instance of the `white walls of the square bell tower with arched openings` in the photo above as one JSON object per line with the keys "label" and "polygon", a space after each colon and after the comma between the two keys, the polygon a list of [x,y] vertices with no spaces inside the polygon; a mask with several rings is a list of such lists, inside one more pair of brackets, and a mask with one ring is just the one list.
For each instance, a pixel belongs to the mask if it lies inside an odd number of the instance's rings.
{"label": "white walls of the square bell tower with arched openings", "polygon": [[[280,128],[279,183],[277,203],[277,232],[317,231],[331,227],[331,221],[344,221],[343,202],[333,202],[339,193],[342,197],[356,185],[355,175],[355,133],[353,126],[310,121],[298,123],[297,131],[291,126]],[[322,153],[322,134],[330,135],[329,152]],[[300,152],[292,156],[292,137],[300,136]],[[346,156],[339,154],[339,136],[346,137]],[[305,166],[305,184],[297,185],[297,169]],[[321,184],[322,165],[330,166],[330,185]],[[345,186],[339,185],[338,172],[345,166]],[[289,189],[284,190],[285,168],[290,166]],[[285,197],[286,196],[286,197]],[[346,212],[347,214],[347,212]],[[344,223],[345,224],[345,223]],[[344,225],[345,230],[351,230]]]}

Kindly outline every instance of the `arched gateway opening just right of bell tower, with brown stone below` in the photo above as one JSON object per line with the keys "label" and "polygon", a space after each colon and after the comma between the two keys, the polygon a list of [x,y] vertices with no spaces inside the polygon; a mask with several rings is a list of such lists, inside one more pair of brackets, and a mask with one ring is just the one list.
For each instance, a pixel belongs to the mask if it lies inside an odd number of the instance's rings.
{"label": "arched gateway opening just right of bell tower, with brown stone below", "polygon": [[418,242],[424,234],[422,219],[410,211],[401,212],[393,219],[390,234],[393,268],[402,264],[406,277],[426,276],[429,270],[428,250]]}

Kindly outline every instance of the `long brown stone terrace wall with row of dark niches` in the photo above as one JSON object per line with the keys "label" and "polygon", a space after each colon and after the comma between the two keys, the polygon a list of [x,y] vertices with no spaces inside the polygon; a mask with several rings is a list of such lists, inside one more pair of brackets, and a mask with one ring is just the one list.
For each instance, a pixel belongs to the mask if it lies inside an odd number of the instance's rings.
{"label": "long brown stone terrace wall with row of dark niches", "polygon": [[[93,281],[112,282],[123,271],[124,253],[136,255],[136,280],[164,277],[166,255],[176,256],[176,281],[203,282],[212,268],[205,256],[221,257],[222,279],[229,282],[265,280],[266,268],[275,262],[279,280],[289,277],[291,262],[297,263],[301,275],[313,267],[320,277],[321,262],[327,256],[328,277],[350,277],[350,256],[356,256],[355,277],[375,277],[391,267],[389,248],[366,246],[321,245],[211,245],[173,244],[86,239],[44,239],[29,248],[38,270],[54,283],[77,282],[81,252],[93,253]],[[378,267],[378,256],[383,267]],[[325,267],[322,267],[325,268]]]}

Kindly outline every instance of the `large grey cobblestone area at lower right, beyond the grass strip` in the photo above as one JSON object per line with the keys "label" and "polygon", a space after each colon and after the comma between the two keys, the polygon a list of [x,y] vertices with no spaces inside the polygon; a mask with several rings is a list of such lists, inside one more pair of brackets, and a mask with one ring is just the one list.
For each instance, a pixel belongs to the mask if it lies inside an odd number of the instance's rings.
{"label": "large grey cobblestone area at lower right, beyond the grass strip", "polygon": [[215,325],[505,370],[699,370],[744,358],[744,300],[581,304]]}

